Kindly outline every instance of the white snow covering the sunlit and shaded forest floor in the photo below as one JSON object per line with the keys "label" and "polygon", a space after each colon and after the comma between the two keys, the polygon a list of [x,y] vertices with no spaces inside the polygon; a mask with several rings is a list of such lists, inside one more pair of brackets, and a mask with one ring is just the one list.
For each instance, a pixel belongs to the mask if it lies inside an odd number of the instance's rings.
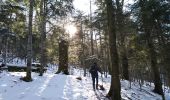
{"label": "white snow covering the sunlit and shaded forest floor", "polygon": [[[73,75],[54,72],[48,70],[42,77],[32,73],[33,81],[24,82],[19,78],[25,76],[25,72],[3,71],[0,73],[0,100],[98,100],[109,90],[110,77],[103,79],[106,90],[96,93],[92,89],[91,77],[83,77],[80,70],[72,70]],[[79,76],[82,80],[76,79]],[[99,84],[102,84],[101,80],[100,77]],[[137,84],[132,83],[130,89],[128,81],[121,81],[122,98],[125,100],[161,100],[161,96],[151,92],[152,88],[142,86],[139,89]],[[170,100],[170,93],[166,92],[166,100]]]}

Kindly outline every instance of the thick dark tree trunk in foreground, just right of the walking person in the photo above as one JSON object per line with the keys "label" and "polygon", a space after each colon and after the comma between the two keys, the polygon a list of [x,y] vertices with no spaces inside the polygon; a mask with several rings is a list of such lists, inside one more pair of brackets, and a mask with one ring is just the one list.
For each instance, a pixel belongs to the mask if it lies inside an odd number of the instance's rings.
{"label": "thick dark tree trunk in foreground, just right of the walking person", "polygon": [[110,94],[112,100],[121,100],[121,87],[119,79],[119,63],[118,53],[116,47],[116,30],[115,30],[115,8],[113,8],[112,0],[105,0],[107,6],[107,19],[108,19],[108,30],[109,30],[109,48],[112,61],[112,82],[110,88]]}

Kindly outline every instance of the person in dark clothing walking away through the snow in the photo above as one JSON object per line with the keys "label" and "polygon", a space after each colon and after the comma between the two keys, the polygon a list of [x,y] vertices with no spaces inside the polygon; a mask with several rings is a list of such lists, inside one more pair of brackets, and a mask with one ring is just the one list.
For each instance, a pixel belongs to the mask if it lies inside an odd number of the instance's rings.
{"label": "person in dark clothing walking away through the snow", "polygon": [[90,67],[89,72],[91,73],[92,76],[92,81],[93,81],[93,90],[95,90],[95,80],[96,80],[96,89],[98,89],[98,72],[101,72],[101,69],[97,66],[97,63],[94,62],[93,65]]}

